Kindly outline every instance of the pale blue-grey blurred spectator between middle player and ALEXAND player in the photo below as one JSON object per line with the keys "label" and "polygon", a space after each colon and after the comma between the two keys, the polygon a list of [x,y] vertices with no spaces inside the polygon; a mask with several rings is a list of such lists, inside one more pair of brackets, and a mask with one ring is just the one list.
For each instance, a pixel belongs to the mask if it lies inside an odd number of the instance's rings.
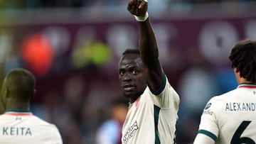
{"label": "pale blue-grey blurred spectator between middle player and ALEXAND player", "polygon": [[[183,113],[201,113],[216,85],[213,74],[206,68],[191,67],[180,79],[181,110]],[[184,116],[184,115],[183,115]]]}

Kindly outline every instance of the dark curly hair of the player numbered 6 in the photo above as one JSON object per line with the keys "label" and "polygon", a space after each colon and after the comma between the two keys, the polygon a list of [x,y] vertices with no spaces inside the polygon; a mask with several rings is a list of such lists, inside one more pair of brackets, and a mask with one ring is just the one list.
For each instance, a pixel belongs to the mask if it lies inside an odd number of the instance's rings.
{"label": "dark curly hair of the player numbered 6", "polygon": [[240,77],[256,83],[256,40],[245,39],[230,52],[231,67],[240,72]]}

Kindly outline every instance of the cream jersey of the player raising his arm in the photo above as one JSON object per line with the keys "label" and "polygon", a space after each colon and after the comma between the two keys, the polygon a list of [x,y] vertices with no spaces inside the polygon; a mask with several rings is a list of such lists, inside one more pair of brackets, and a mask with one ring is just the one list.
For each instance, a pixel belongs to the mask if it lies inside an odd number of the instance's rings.
{"label": "cream jersey of the player raising his arm", "polygon": [[122,128],[122,143],[175,143],[178,104],[178,94],[166,77],[156,94],[146,87],[137,101],[129,105]]}

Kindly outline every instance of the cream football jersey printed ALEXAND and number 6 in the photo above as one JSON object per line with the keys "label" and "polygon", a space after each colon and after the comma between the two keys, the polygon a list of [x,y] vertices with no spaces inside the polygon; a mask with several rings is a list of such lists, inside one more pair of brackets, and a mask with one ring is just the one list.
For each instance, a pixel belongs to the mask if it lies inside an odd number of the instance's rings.
{"label": "cream football jersey printed ALEXAND and number 6", "polygon": [[256,85],[240,84],[237,89],[208,101],[198,135],[208,135],[221,144],[255,144],[255,128]]}

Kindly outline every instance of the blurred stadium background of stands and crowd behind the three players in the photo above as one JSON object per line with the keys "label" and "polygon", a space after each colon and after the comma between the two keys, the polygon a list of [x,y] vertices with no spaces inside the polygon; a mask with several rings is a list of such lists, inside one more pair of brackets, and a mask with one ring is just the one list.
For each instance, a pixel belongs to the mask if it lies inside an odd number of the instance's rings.
{"label": "blurred stadium background of stands and crowd behind the three players", "polygon": [[[136,48],[137,23],[127,0],[1,0],[0,70],[36,74],[33,112],[60,129],[64,143],[94,144],[122,97],[117,62]],[[206,101],[237,87],[228,55],[256,39],[250,0],[149,0],[160,60],[181,96],[177,143],[193,141]]]}

